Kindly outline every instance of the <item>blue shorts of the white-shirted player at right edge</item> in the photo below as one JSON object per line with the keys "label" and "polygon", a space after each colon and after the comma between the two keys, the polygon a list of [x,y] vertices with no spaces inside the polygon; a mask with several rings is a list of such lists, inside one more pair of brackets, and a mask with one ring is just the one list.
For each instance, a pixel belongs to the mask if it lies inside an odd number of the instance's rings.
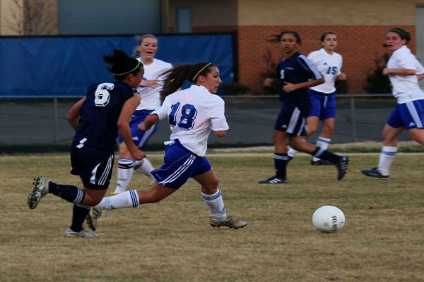
{"label": "blue shorts of the white-shirted player at right edge", "polygon": [[396,104],[387,119],[392,128],[424,128],[424,100]]}

